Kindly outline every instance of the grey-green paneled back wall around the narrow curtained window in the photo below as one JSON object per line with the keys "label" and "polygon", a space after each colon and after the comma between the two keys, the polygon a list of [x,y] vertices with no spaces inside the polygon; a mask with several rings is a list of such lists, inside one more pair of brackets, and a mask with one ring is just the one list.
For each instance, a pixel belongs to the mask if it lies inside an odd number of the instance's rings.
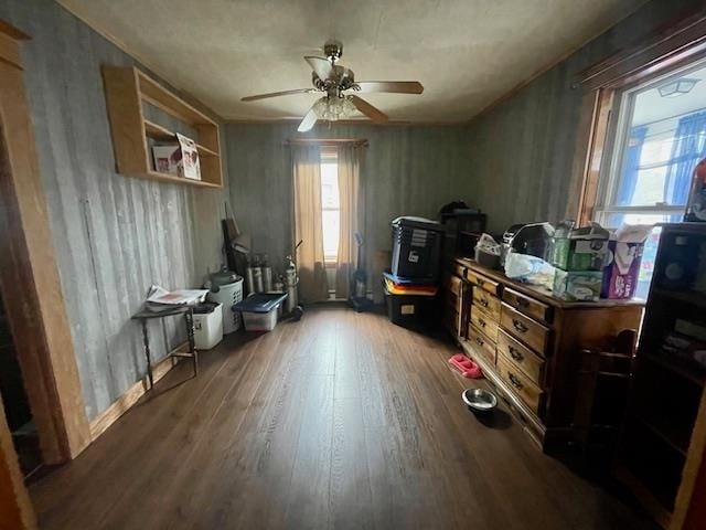
{"label": "grey-green paneled back wall around the narrow curtained window", "polygon": [[[370,287],[382,300],[379,275],[391,250],[389,223],[398,215],[435,219],[453,200],[479,204],[470,172],[463,126],[323,125],[304,138],[365,138],[361,168],[366,211],[363,236]],[[297,124],[227,124],[224,162],[231,204],[240,230],[253,237],[255,252],[281,267],[291,250],[290,138],[301,138]]]}

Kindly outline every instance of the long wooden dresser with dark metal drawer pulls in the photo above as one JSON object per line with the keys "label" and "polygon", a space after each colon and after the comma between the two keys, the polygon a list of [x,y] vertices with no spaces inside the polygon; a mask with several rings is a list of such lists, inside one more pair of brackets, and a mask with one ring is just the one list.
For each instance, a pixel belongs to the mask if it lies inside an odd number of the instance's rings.
{"label": "long wooden dresser with dark metal drawer pulls", "polygon": [[580,349],[637,330],[643,305],[563,301],[468,258],[456,258],[452,273],[446,322],[466,354],[539,445],[570,439]]}

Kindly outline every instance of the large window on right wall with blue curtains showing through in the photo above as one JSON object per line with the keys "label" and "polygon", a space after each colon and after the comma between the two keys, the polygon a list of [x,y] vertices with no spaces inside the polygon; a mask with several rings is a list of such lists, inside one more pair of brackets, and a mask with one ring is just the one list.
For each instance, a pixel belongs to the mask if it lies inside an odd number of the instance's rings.
{"label": "large window on right wall with blue curtains showing through", "polygon": [[706,157],[706,62],[620,91],[616,102],[596,220],[609,227],[681,221],[692,172]]}

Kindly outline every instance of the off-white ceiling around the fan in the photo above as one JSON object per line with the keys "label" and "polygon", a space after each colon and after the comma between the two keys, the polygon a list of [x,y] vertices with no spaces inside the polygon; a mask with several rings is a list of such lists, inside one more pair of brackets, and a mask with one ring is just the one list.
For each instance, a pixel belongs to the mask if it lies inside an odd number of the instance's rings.
{"label": "off-white ceiling around the fan", "polygon": [[237,120],[301,117],[314,95],[301,59],[329,38],[359,81],[420,81],[366,95],[392,119],[462,121],[600,34],[645,0],[58,0],[148,67]]}

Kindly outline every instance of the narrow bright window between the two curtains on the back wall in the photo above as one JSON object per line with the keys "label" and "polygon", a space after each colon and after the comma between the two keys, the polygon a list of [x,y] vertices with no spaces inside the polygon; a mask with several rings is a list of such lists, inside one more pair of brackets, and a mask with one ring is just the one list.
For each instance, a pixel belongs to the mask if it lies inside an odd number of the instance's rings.
{"label": "narrow bright window between the two curtains on the back wall", "polygon": [[335,263],[339,257],[341,202],[338,162],[335,149],[321,151],[321,219],[323,223],[323,256],[327,263]]}

